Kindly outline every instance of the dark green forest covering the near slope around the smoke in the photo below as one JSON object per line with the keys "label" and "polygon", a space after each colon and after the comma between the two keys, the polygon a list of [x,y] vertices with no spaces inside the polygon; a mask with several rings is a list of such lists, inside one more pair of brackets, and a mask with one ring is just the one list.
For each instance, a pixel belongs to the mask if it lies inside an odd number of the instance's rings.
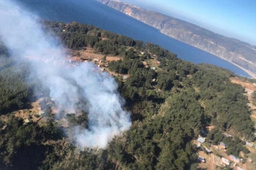
{"label": "dark green forest covering the near slope around the smoke", "polygon": [[[64,131],[68,133],[76,125],[86,128],[85,112],[79,117],[68,113],[66,128],[52,116],[43,125],[24,124],[12,112],[27,107],[37,89],[26,79],[30,72],[26,63],[14,62],[1,44],[0,116],[5,119],[0,117],[0,168],[196,169],[198,149],[192,141],[202,131],[208,133],[208,142],[225,141],[229,154],[249,152],[241,139],[252,136],[255,128],[245,90],[229,80],[236,76],[233,72],[183,61],[158,45],[92,25],[41,22],[44,30],[57,35],[67,48],[90,47],[100,54],[122,57],[110,62],[109,69],[129,74],[126,80],[116,77],[116,81],[125,109],[131,112],[132,127],[106,149],[80,150]],[[153,55],[160,64],[155,69],[145,67],[143,62],[152,60]],[[208,126],[214,129],[209,131]],[[235,132],[236,136],[233,140],[223,132]]]}

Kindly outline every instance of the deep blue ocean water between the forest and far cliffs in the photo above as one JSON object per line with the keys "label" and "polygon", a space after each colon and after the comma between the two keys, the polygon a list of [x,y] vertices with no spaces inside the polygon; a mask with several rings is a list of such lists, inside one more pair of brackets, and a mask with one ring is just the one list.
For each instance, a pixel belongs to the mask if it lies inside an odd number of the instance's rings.
{"label": "deep blue ocean water between the forest and far cliffs", "polygon": [[109,8],[95,0],[16,0],[47,20],[91,24],[134,39],[151,42],[193,63],[209,63],[227,68],[237,75],[251,77],[237,66],[203,50],[170,38],[152,26]]}

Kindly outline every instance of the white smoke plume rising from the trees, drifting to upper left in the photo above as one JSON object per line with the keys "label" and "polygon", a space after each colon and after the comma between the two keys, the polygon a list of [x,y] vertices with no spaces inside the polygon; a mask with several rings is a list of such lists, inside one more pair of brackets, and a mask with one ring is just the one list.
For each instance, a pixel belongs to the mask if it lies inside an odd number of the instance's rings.
{"label": "white smoke plume rising from the trees, drifting to upper left", "polygon": [[17,59],[31,64],[60,109],[75,110],[80,100],[86,103],[80,107],[88,112],[89,128],[74,131],[79,146],[105,148],[130,128],[115,80],[91,63],[59,64],[66,60],[62,47],[44,33],[33,14],[10,0],[0,0],[0,38]]}

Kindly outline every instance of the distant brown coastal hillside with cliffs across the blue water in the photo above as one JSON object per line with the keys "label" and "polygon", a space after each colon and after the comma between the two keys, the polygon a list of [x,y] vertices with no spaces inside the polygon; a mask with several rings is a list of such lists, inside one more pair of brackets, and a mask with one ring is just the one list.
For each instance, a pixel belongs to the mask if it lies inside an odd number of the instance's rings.
{"label": "distant brown coastal hillside with cliffs across the blue water", "polygon": [[186,21],[131,4],[116,0],[97,1],[151,25],[169,37],[228,60],[247,71],[251,76],[256,77],[256,47],[251,44],[228,38]]}

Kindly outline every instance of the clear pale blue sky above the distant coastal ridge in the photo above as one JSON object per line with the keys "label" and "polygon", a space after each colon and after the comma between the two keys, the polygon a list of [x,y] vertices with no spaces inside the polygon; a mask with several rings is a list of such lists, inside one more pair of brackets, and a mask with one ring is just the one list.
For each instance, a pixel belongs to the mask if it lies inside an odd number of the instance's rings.
{"label": "clear pale blue sky above the distant coastal ridge", "polygon": [[256,0],[122,0],[256,45]]}

